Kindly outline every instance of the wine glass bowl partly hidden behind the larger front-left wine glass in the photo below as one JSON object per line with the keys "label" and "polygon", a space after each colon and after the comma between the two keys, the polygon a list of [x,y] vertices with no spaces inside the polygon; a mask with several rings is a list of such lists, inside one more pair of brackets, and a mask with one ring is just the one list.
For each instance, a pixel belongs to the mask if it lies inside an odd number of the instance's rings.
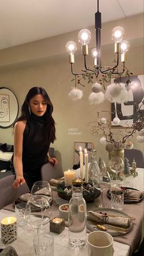
{"label": "wine glass bowl partly hidden behind the larger front-left wine glass", "polygon": [[45,181],[45,180],[36,181],[32,186],[31,195],[44,196],[48,199],[50,205],[52,204],[53,193],[48,181]]}

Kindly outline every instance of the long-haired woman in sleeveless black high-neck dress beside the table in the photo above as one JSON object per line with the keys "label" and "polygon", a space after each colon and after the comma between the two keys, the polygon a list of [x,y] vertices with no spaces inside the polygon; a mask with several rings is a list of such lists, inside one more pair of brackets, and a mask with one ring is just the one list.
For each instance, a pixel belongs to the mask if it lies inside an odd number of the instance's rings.
{"label": "long-haired woman in sleeveless black high-neck dress beside the table", "polygon": [[53,106],[48,93],[33,87],[21,107],[21,116],[14,124],[14,155],[11,169],[16,179],[13,187],[25,182],[31,190],[35,181],[41,180],[40,169],[45,163],[57,165],[56,158],[49,158],[48,150],[56,139]]}

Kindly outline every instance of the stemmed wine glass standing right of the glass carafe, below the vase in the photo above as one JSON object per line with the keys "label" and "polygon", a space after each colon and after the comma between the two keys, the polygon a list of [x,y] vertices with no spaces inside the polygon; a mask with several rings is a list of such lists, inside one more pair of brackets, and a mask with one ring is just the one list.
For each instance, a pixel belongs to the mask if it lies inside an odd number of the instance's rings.
{"label": "stemmed wine glass standing right of the glass carafe, below the vase", "polygon": [[105,207],[107,208],[107,205],[104,205],[103,203],[103,191],[105,189],[109,189],[111,185],[111,178],[109,172],[106,170],[106,166],[101,169],[101,171],[98,171],[93,176],[93,186],[95,188],[101,190],[101,204],[98,205],[98,208]]}

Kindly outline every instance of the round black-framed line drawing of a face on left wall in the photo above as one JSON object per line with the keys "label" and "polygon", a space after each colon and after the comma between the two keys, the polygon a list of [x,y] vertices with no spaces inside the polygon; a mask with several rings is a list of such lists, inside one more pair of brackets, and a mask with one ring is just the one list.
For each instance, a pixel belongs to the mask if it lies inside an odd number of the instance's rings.
{"label": "round black-framed line drawing of a face on left wall", "polygon": [[9,128],[18,116],[18,100],[15,93],[0,87],[0,127]]}

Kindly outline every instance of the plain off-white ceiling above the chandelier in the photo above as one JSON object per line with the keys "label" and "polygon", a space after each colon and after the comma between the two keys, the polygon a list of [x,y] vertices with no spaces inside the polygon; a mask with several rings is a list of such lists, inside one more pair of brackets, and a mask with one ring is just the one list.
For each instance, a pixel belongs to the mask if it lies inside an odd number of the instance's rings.
{"label": "plain off-white ceiling above the chandelier", "polygon": [[[96,0],[0,0],[0,49],[95,24]],[[99,0],[102,22],[143,12],[143,0]]]}

